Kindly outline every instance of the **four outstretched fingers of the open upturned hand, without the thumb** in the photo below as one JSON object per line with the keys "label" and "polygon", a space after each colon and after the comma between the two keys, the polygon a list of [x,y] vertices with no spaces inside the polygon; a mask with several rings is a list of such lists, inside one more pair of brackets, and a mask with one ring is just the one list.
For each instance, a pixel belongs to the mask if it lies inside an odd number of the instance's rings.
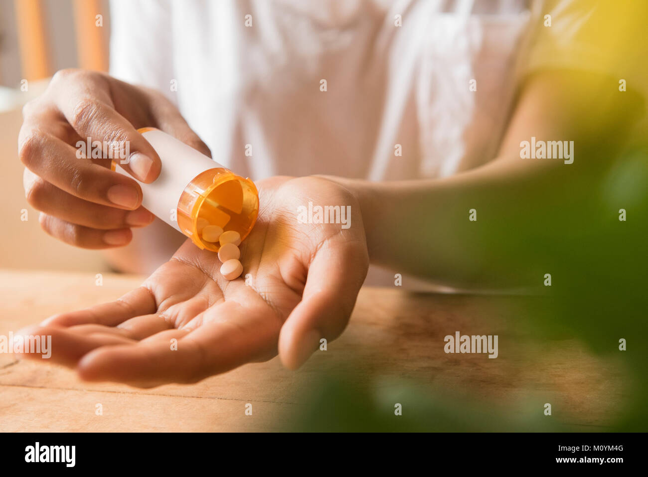
{"label": "four outstretched fingers of the open upturned hand, without the thumb", "polygon": [[281,323],[268,319],[266,307],[223,302],[205,311],[196,329],[172,328],[158,314],[126,318],[150,309],[147,294],[135,290],[122,301],[61,314],[21,333],[49,336],[50,362],[76,366],[85,380],[143,388],[197,382],[276,354]]}

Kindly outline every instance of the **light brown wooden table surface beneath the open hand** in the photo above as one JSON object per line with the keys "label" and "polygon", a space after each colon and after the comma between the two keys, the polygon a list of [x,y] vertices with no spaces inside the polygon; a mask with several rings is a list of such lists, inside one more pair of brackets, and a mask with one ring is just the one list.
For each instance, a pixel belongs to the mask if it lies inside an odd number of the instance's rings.
{"label": "light brown wooden table surface beneath the open hand", "polygon": [[[0,334],[116,299],[141,281],[104,275],[96,286],[91,273],[0,271]],[[542,416],[550,402],[551,419],[575,430],[606,430],[627,399],[621,364],[588,354],[573,338],[535,340],[513,306],[518,300],[364,288],[347,331],[298,371],[274,358],[198,384],[149,390],[82,382],[63,367],[2,354],[0,430],[282,430],[308,406],[308,391],[339,373],[373,386],[415,382],[430,393],[468,397],[516,416]],[[443,337],[455,331],[498,334],[498,358],[444,353]],[[102,415],[95,413],[97,404]]]}

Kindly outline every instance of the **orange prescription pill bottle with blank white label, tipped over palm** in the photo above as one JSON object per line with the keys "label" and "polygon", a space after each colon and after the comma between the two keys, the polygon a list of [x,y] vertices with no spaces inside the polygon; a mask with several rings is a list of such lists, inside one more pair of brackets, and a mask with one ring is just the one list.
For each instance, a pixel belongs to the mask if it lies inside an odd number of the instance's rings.
{"label": "orange prescription pill bottle with blank white label, tipped over palm", "polygon": [[[199,218],[224,231],[237,231],[241,240],[248,236],[259,214],[259,192],[251,180],[237,176],[159,129],[137,131],[162,161],[155,181],[138,181],[145,209],[187,235],[201,249],[218,251],[220,244],[202,240],[198,233]],[[112,169],[132,178],[120,161],[113,161]]]}

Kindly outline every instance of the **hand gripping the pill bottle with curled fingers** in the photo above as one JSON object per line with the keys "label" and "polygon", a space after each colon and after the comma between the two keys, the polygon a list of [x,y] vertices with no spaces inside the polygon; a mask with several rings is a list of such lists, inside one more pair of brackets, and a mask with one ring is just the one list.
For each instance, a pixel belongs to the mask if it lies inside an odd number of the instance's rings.
{"label": "hand gripping the pill bottle with curled fingers", "polygon": [[[84,248],[128,244],[128,227],[154,220],[141,208],[141,185],[133,178],[156,180],[161,161],[137,128],[160,127],[210,154],[163,95],[103,73],[59,71],[25,105],[23,118],[18,152],[30,171],[27,199],[44,213],[41,224],[50,235]],[[133,178],[111,170],[111,160]]]}

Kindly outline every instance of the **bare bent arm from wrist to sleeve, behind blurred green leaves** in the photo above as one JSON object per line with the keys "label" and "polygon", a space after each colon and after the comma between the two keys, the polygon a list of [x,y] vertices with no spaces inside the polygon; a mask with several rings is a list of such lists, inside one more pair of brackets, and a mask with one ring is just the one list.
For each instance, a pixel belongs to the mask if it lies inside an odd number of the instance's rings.
{"label": "bare bent arm from wrist to sleeve, behind blurred green leaves", "polygon": [[[500,156],[478,169],[438,180],[334,179],[358,196],[371,261],[451,286],[541,285],[614,212],[601,208],[601,184],[643,104],[608,86],[579,73],[531,78]],[[572,157],[525,157],[520,145],[531,137],[567,141]]]}

